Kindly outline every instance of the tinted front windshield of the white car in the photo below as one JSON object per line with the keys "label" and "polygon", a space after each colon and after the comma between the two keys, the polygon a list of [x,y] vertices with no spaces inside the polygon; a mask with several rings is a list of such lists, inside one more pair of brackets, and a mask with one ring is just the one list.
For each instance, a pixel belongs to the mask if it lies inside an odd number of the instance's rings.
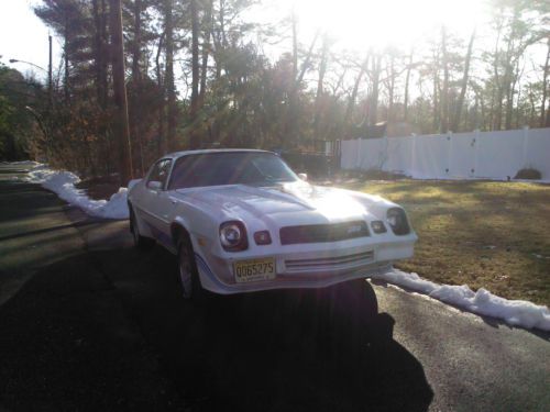
{"label": "tinted front windshield of the white car", "polygon": [[180,157],[168,190],[219,185],[273,186],[298,177],[276,155],[263,152],[207,153]]}

